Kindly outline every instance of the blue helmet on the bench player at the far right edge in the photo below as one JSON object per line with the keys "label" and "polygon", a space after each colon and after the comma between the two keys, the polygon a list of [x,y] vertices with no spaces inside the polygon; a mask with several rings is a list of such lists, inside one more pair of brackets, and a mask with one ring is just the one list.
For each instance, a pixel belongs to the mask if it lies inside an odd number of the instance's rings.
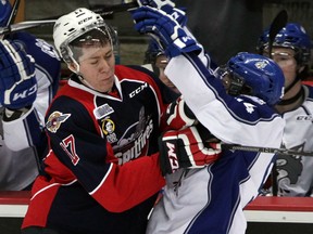
{"label": "blue helmet on the bench player at the far right edge", "polygon": [[[265,29],[259,38],[256,49],[260,53],[268,46],[268,31],[270,29]],[[295,50],[295,58],[300,65],[305,65],[310,61],[311,39],[305,29],[298,23],[287,24],[274,38],[273,47]]]}

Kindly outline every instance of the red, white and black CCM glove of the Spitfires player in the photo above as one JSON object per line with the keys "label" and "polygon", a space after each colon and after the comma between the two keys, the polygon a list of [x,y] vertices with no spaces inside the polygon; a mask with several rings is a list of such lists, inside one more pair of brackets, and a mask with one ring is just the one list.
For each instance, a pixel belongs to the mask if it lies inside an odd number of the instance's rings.
{"label": "red, white and black CCM glove of the Spitfires player", "polygon": [[[208,131],[209,134],[209,131]],[[203,168],[221,156],[220,143],[204,143],[195,126],[180,131],[172,130],[159,139],[162,174],[179,168]]]}

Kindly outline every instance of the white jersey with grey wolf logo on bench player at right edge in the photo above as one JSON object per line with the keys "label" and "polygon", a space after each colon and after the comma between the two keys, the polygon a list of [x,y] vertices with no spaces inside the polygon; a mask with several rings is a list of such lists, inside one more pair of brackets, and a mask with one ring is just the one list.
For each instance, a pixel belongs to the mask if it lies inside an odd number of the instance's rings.
{"label": "white jersey with grey wolf logo on bench player at right edge", "polygon": [[[286,120],[283,147],[298,151],[313,151],[313,87],[304,86],[303,103],[283,114]],[[278,195],[312,196],[313,158],[299,155],[277,155]]]}

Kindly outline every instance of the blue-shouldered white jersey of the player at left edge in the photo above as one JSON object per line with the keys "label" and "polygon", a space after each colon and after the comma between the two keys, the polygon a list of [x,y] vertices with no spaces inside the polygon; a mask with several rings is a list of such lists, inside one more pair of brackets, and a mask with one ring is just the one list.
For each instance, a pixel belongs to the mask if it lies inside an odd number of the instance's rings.
{"label": "blue-shouldered white jersey of the player at left edge", "polygon": [[21,118],[0,122],[0,191],[20,191],[38,176],[37,154],[42,145],[45,113],[57,92],[61,62],[53,47],[27,32],[15,32],[7,39],[18,42],[35,58],[38,84],[32,108]]}

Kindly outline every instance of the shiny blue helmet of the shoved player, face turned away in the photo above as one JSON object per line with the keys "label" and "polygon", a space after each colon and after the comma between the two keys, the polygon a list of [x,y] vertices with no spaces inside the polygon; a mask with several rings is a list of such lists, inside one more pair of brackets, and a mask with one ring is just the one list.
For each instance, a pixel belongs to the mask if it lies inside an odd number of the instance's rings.
{"label": "shiny blue helmet of the shoved player, face turned away", "polygon": [[268,105],[275,105],[284,95],[285,78],[280,67],[271,58],[240,52],[227,62],[230,77],[242,80],[249,94],[258,96]]}

